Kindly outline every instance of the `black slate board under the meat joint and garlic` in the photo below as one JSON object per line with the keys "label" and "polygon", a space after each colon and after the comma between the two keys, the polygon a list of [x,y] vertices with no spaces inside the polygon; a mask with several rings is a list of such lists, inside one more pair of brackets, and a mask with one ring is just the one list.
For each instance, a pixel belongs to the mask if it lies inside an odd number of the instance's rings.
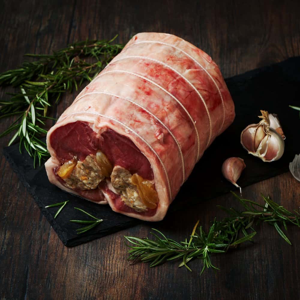
{"label": "black slate board under the meat joint and garlic", "polygon": [[[190,207],[235,189],[221,174],[222,163],[228,157],[237,156],[244,159],[247,167],[238,181],[241,187],[244,187],[288,171],[289,162],[299,153],[299,114],[289,108],[289,105],[300,106],[300,57],[289,58],[269,67],[228,78],[226,83],[235,103],[235,121],[217,137],[196,164],[191,176],[170,206],[168,214],[186,208],[187,201]],[[247,125],[259,122],[257,116],[260,115],[261,109],[279,115],[286,136],[283,157],[272,163],[263,163],[258,158],[248,155],[240,144],[241,131]],[[108,205],[98,205],[61,191],[49,183],[44,165],[34,169],[32,158],[25,152],[21,155],[18,145],[5,148],[4,155],[61,241],[68,247],[141,223],[140,220],[113,212]],[[45,206],[66,199],[70,202],[54,219],[57,207],[45,209]],[[76,229],[81,226],[70,223],[69,220],[86,218],[73,207],[82,208],[104,219],[104,222],[85,234],[77,235]]]}

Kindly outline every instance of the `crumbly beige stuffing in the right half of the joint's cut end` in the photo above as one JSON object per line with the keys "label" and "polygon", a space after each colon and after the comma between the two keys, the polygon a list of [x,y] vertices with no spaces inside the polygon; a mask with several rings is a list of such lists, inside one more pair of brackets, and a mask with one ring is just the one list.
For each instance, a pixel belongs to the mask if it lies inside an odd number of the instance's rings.
{"label": "crumbly beige stuffing in the right half of the joint's cut end", "polygon": [[140,198],[137,186],[131,182],[132,174],[128,170],[120,166],[115,166],[110,178],[111,185],[121,195],[121,200],[126,205],[135,211],[148,210]]}

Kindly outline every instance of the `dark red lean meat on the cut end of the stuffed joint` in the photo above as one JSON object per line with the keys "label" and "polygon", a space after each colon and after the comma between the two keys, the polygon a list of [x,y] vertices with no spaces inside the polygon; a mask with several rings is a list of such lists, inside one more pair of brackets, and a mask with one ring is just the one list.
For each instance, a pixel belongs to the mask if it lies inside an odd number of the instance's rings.
{"label": "dark red lean meat on the cut end of the stuffed joint", "polygon": [[[146,156],[140,152],[140,149],[128,137],[122,136],[112,129],[107,129],[98,138],[97,134],[88,126],[88,122],[76,121],[57,128],[50,136],[50,144],[61,163],[73,159],[74,156],[83,161],[86,156],[96,154],[100,149],[113,166],[121,166],[131,174],[137,173],[144,179],[154,179],[152,167]],[[57,177],[64,184],[64,181],[59,176]],[[99,189],[74,190],[82,197],[92,201],[99,202],[104,200],[104,195]],[[109,194],[110,196],[116,195],[113,192]],[[118,197],[114,196],[114,199],[118,209],[136,212],[128,207],[120,197],[118,199]],[[152,213],[154,214],[153,211],[156,211],[156,209],[149,209],[148,211],[149,215],[151,215]],[[148,215],[148,211],[141,214]]]}

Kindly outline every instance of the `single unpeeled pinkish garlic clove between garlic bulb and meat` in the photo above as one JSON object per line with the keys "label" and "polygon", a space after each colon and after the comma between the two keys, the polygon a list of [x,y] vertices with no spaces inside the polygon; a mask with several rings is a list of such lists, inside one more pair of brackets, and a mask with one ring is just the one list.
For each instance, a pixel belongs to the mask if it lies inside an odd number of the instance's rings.
{"label": "single unpeeled pinkish garlic clove between garlic bulb and meat", "polygon": [[242,171],[246,167],[244,160],[239,157],[230,157],[223,162],[222,174],[223,176],[234,184],[236,187],[240,188],[240,193],[242,194],[241,187],[236,183],[240,178]]}

